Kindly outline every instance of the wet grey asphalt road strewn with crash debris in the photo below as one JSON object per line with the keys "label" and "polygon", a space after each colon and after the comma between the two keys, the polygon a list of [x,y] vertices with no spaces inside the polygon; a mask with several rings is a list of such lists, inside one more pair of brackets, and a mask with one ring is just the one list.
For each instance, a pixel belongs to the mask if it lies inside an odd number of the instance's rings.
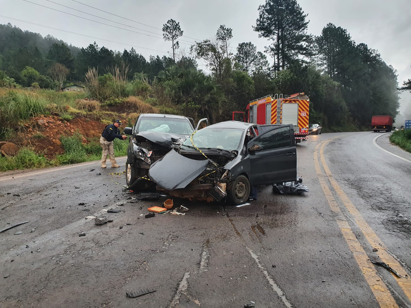
{"label": "wet grey asphalt road strewn with crash debris", "polygon": [[[98,162],[3,175],[0,229],[30,222],[0,233],[0,306],[411,307],[411,278],[369,262],[410,275],[411,154],[372,132],[309,136],[297,152],[309,193],[175,199],[184,216],[144,218],[162,202],[130,203]],[[126,297],[143,288],[157,291]]]}

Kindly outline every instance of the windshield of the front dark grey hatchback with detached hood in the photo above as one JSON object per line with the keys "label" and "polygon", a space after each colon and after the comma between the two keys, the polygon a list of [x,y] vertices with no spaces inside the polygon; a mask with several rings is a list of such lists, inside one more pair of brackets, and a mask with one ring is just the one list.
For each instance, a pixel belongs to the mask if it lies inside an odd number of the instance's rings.
{"label": "windshield of the front dark grey hatchback with detached hood", "polygon": [[[199,148],[224,149],[228,151],[238,149],[244,129],[204,128],[193,136],[193,143]],[[192,147],[190,138],[183,145]]]}

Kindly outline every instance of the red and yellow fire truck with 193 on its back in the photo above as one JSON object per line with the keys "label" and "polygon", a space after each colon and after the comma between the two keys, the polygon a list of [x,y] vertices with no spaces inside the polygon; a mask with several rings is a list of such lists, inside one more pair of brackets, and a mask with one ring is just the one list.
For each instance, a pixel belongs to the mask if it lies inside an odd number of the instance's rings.
{"label": "red and yellow fire truck with 193 on its back", "polygon": [[293,124],[296,143],[308,139],[309,98],[304,92],[289,96],[268,95],[250,101],[246,112],[234,111],[233,121],[238,116],[245,122],[263,124]]}

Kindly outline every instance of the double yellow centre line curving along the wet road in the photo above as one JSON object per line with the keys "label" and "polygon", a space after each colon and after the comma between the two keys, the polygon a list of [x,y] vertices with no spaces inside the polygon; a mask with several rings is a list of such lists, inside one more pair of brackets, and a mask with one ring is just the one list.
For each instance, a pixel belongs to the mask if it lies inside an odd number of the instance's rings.
{"label": "double yellow centre line curving along the wet road", "polygon": [[[337,138],[337,137],[336,137]],[[328,204],[330,205],[331,210],[335,213],[337,224],[342,232],[342,235],[348,244],[351,252],[353,253],[354,258],[357,261],[358,267],[363,272],[365,280],[367,281],[371,291],[373,292],[376,300],[379,303],[381,308],[393,308],[398,307],[395,299],[393,298],[390,290],[386,284],[379,276],[374,264],[369,261],[369,257],[365,252],[364,248],[361,246],[354,232],[351,230],[349,223],[347,222],[344,214],[341,211],[342,207],[345,207],[352,216],[353,221],[358,225],[358,228],[364,234],[365,239],[373,248],[378,249],[378,255],[382,262],[385,262],[390,267],[392,267],[398,274],[405,276],[407,273],[405,269],[399,264],[399,262],[388,253],[386,246],[383,244],[381,239],[375,234],[372,228],[365,221],[363,216],[361,216],[358,209],[353,205],[351,200],[348,198],[346,193],[339,186],[337,181],[332,176],[330,168],[326,163],[324,158],[324,147],[335,138],[323,141],[319,143],[314,150],[314,165],[316,169],[317,176],[319,178],[319,183],[321,188],[326,196]],[[321,148],[320,148],[321,147]],[[321,165],[324,172],[321,170]],[[324,175],[325,173],[325,175]],[[337,202],[334,198],[330,187],[327,184],[327,180],[331,183],[331,186],[334,188],[335,193],[339,196],[340,202]],[[340,207],[340,205],[341,207]],[[405,296],[408,297],[408,300],[411,301],[411,281],[406,278],[398,278],[395,276],[395,280],[398,283],[398,286],[402,289]]]}

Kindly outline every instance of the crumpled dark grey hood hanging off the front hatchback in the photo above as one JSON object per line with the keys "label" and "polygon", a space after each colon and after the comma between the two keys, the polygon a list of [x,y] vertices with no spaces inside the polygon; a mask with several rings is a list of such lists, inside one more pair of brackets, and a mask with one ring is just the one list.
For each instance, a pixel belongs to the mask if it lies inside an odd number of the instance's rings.
{"label": "crumpled dark grey hood hanging off the front hatchback", "polygon": [[158,186],[173,191],[174,189],[185,188],[201,175],[207,165],[208,160],[196,161],[171,150],[151,165],[148,176]]}

